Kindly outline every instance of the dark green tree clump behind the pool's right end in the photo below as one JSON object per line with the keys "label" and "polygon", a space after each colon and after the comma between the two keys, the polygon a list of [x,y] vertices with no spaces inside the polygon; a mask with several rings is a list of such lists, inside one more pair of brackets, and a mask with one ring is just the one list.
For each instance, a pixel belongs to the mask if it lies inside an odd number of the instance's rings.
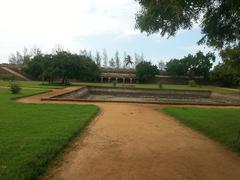
{"label": "dark green tree clump behind the pool's right end", "polygon": [[215,61],[215,56],[212,53],[199,51],[195,55],[189,54],[182,59],[172,59],[166,64],[168,74],[173,76],[203,76],[209,78],[212,63]]}

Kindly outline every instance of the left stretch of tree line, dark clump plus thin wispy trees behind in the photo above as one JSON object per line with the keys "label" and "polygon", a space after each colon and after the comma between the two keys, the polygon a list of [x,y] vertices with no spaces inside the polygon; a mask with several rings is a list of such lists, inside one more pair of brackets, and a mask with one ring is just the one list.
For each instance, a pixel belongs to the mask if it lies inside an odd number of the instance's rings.
{"label": "left stretch of tree line, dark clump plus thin wispy trees behind", "polygon": [[10,64],[16,64],[22,71],[34,80],[48,81],[53,83],[61,81],[68,83],[69,79],[77,81],[95,82],[99,80],[102,68],[135,68],[137,64],[144,62],[143,55],[135,53],[133,59],[124,53],[121,60],[119,52],[108,60],[107,51],[102,55],[99,51],[95,57],[91,51],[80,50],[79,53],[71,53],[58,46],[52,53],[43,53],[34,47],[30,51],[24,48],[23,52],[16,51],[9,57]]}

